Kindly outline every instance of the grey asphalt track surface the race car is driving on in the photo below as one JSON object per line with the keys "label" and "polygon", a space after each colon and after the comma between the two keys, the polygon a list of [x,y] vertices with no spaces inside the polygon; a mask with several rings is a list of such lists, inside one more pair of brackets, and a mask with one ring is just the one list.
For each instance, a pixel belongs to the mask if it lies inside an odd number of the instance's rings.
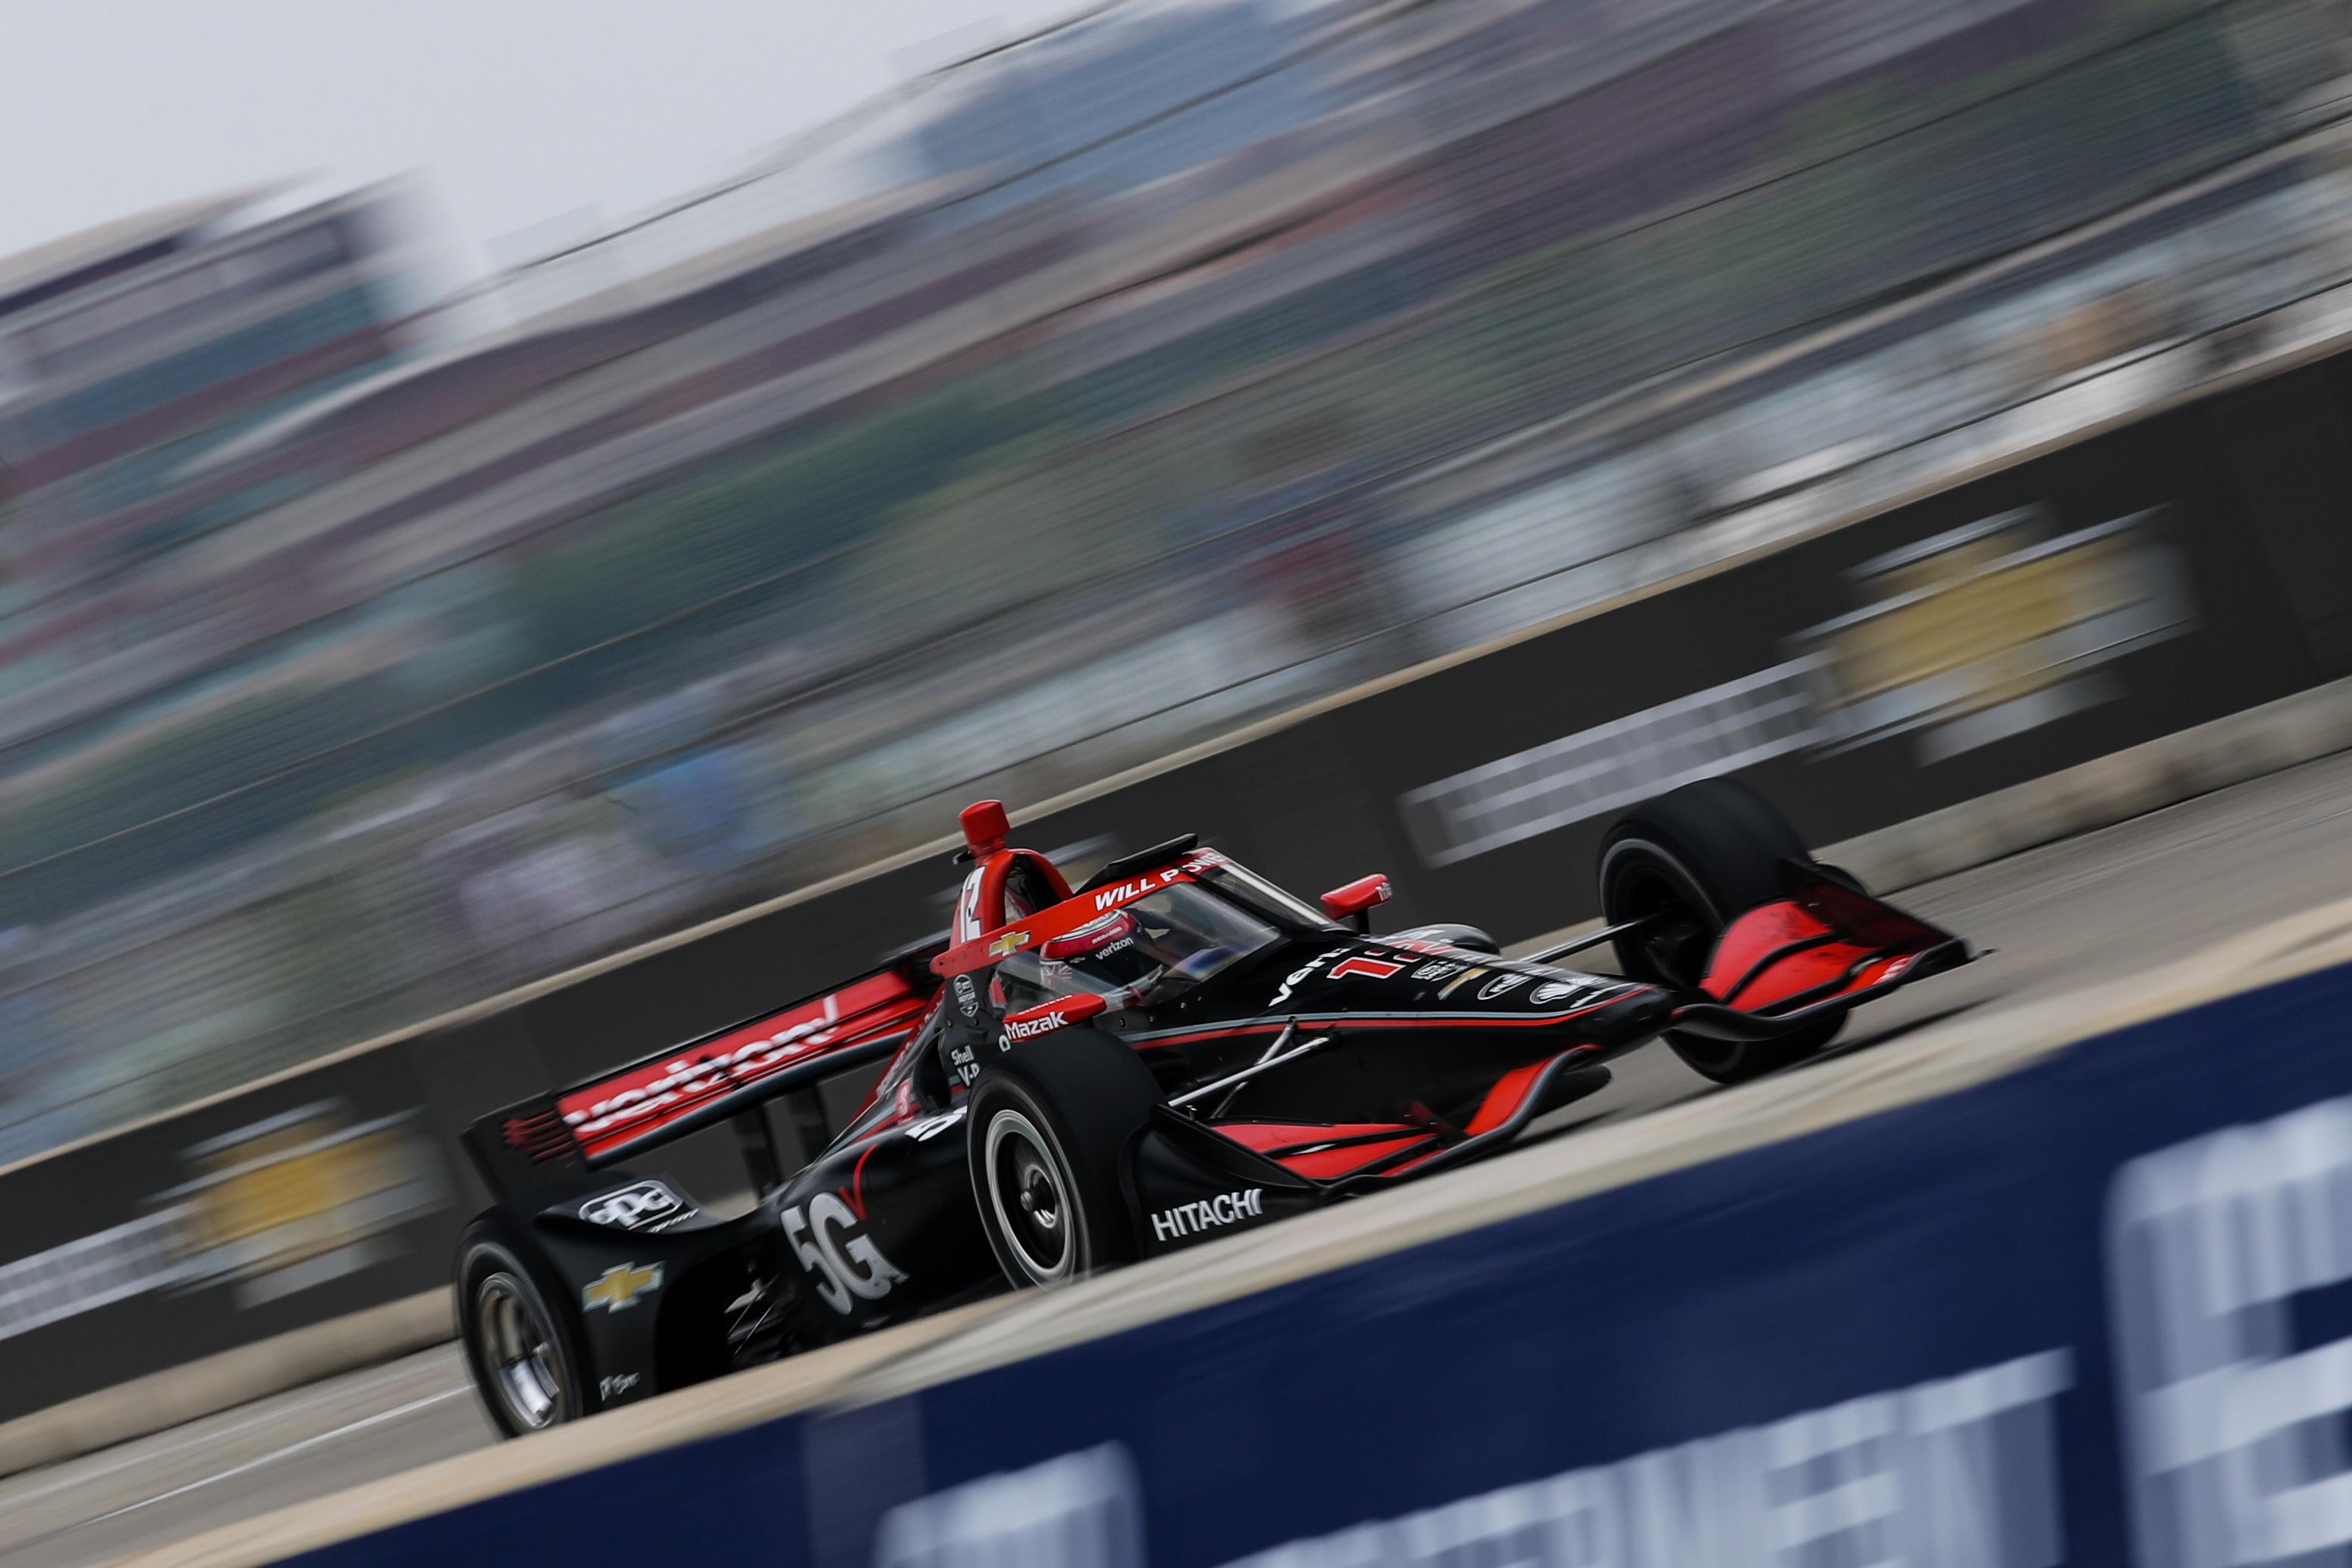
{"label": "grey asphalt track surface the race car is driving on", "polygon": [[[1837,1051],[2124,980],[2345,896],[2352,755],[1905,889],[1905,905],[1992,952],[1858,1016]],[[1663,1046],[1616,1074],[1536,1135],[1738,1093]],[[456,1349],[428,1349],[0,1481],[0,1568],[106,1563],[492,1441]]]}

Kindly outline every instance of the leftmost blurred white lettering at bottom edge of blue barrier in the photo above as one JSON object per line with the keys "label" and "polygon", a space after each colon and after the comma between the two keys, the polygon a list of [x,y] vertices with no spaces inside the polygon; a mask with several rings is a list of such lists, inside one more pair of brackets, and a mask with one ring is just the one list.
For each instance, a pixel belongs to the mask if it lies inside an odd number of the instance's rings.
{"label": "leftmost blurred white lettering at bottom edge of blue barrier", "polygon": [[901,1502],[875,1568],[1143,1568],[1143,1488],[1120,1443]]}

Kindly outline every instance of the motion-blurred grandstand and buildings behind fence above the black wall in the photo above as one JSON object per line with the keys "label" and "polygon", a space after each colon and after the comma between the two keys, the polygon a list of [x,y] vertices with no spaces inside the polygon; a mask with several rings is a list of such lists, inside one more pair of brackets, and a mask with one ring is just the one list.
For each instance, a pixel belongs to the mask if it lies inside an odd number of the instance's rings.
{"label": "motion-blurred grandstand and buildings behind fence above the black wall", "polygon": [[379,193],[0,261],[0,1159],[2211,374],[2352,277],[2347,47],[1127,5],[454,343]]}

